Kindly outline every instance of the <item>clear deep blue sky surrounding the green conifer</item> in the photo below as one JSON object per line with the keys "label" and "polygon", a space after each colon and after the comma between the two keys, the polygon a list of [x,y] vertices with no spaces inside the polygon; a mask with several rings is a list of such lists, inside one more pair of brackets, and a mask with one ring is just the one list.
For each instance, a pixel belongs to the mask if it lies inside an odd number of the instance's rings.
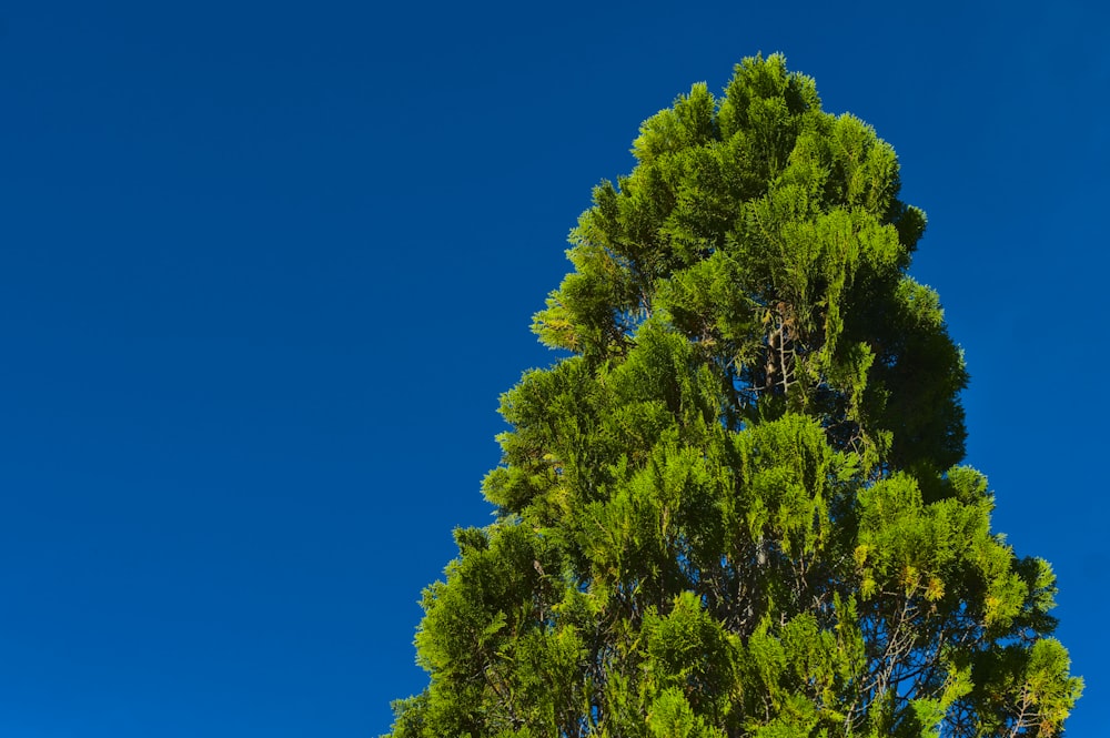
{"label": "clear deep blue sky surrounding the green conifer", "polygon": [[3,3],[0,736],[386,731],[591,188],[759,51],[898,151],[1110,735],[1101,4]]}

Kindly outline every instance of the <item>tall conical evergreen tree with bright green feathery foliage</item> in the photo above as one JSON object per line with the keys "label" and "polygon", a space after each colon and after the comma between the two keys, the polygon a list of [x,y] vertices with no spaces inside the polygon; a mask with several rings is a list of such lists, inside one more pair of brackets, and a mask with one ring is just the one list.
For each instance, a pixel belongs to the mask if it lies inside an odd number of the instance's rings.
{"label": "tall conical evergreen tree with bright green feathery foliage", "polygon": [[1049,736],[1049,565],[991,533],[894,150],[746,59],[640,128],[535,317],[567,355],[423,597],[393,736]]}

